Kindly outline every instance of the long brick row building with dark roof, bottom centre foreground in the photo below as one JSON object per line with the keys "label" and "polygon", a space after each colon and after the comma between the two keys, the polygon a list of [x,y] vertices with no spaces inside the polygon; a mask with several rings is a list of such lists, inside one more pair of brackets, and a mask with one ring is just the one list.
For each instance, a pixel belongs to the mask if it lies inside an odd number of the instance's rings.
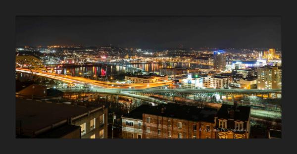
{"label": "long brick row building with dark roof, bottom centre foreground", "polygon": [[[140,132],[138,130],[140,126],[141,137],[147,139],[213,139],[215,138],[213,130],[216,113],[217,109],[213,108],[198,108],[173,103],[158,106],[141,105],[130,115],[123,116],[122,132],[125,134],[123,138],[131,138],[132,132]],[[129,120],[133,122],[132,126],[129,122],[127,123]],[[136,121],[138,124],[141,122],[142,125],[134,124]]]}

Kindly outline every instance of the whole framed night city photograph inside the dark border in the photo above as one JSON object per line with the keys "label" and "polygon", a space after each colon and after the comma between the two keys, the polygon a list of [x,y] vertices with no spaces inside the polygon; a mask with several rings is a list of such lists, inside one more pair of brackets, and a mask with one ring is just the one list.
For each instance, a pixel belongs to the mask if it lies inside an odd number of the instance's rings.
{"label": "whole framed night city photograph inside the dark border", "polygon": [[17,17],[16,138],[282,138],[275,17]]}

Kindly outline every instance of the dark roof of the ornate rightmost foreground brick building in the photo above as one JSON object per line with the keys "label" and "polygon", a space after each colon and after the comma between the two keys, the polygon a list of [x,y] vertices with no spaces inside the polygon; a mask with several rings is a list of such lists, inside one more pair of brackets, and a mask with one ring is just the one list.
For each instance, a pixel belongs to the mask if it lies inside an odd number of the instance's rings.
{"label": "dark roof of the ornate rightmost foreground brick building", "polygon": [[[232,109],[234,109],[234,116],[232,116]],[[217,113],[218,118],[234,119],[240,121],[248,121],[250,113],[250,106],[238,106],[222,104],[221,108]]]}

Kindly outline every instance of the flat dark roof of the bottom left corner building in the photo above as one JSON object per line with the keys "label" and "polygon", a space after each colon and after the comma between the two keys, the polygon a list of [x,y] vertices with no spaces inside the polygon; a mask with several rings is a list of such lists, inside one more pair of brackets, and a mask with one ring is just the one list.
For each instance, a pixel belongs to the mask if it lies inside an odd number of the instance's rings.
{"label": "flat dark roof of the bottom left corner building", "polygon": [[64,103],[43,103],[16,99],[16,127],[36,132],[52,124],[68,120],[95,109]]}

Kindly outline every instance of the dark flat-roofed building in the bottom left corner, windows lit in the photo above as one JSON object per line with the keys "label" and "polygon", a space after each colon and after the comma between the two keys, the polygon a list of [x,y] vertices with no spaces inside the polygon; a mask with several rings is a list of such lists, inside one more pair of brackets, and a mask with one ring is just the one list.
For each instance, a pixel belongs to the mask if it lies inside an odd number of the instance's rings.
{"label": "dark flat-roofed building in the bottom left corner, windows lit", "polygon": [[17,98],[16,138],[107,138],[107,108]]}

